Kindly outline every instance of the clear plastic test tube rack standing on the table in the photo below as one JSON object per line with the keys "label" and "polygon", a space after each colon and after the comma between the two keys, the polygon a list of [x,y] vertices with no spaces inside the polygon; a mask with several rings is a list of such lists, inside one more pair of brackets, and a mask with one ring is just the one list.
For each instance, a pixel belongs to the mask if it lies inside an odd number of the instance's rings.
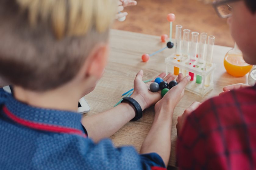
{"label": "clear plastic test tube rack standing on the table", "polygon": [[[196,62],[191,62],[190,59],[182,58],[181,56],[176,56],[175,54],[169,56],[165,59],[166,64],[166,74],[174,73],[174,67],[178,67],[181,70],[181,73],[185,74],[184,76],[192,74],[191,80],[188,85],[185,87],[185,90],[190,91],[194,94],[197,94],[201,97],[204,97],[210,90],[213,89],[213,77],[214,71],[216,70],[216,64],[212,63],[211,66],[206,66],[206,62],[199,64]],[[191,76],[191,74],[190,74]],[[201,83],[196,83],[196,77],[201,76]],[[205,82],[209,81],[209,86],[205,86]]]}

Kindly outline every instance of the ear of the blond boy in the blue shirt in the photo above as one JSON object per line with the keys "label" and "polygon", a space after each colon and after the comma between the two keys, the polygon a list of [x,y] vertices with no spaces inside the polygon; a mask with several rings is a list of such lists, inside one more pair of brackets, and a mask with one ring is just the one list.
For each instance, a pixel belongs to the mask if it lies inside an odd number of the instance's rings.
{"label": "ear of the blond boy in the blue shirt", "polygon": [[108,44],[99,44],[87,57],[86,76],[94,76],[100,78],[105,69],[108,60],[109,46]]}

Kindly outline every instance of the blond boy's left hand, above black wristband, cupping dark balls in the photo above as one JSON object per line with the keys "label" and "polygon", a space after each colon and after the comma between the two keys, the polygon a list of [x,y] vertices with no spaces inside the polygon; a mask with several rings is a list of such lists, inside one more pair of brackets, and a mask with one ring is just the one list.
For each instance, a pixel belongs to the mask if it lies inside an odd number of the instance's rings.
{"label": "blond boy's left hand, above black wristband, cupping dark balls", "polygon": [[[161,91],[158,92],[151,92],[149,90],[149,86],[152,82],[144,83],[142,81],[143,77],[143,71],[140,70],[139,73],[137,73],[135,80],[134,80],[134,92],[131,95],[132,98],[137,100],[137,102],[140,104],[142,110],[154,105],[158,100],[161,99]],[[170,81],[175,79],[175,76],[171,73],[168,74],[165,77],[165,73],[161,73],[158,75],[158,77],[161,77],[169,83]],[[164,78],[165,77],[165,78]]]}

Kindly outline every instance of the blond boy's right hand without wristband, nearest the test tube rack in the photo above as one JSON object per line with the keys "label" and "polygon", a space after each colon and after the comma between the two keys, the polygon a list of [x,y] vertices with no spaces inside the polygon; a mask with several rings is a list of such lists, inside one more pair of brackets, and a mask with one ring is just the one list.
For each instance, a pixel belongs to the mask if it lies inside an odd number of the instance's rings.
{"label": "blond boy's right hand without wristband, nearest the test tube rack", "polygon": [[183,77],[183,74],[180,73],[177,78],[178,85],[172,87],[165,96],[155,104],[155,112],[160,113],[164,111],[165,113],[173,113],[174,108],[184,96],[185,87],[190,79],[190,76]]}

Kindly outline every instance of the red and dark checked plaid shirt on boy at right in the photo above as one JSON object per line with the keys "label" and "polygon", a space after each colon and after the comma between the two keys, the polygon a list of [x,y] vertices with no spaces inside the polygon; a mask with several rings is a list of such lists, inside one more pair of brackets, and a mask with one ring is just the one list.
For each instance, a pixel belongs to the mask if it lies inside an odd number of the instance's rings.
{"label": "red and dark checked plaid shirt on boy at right", "polygon": [[183,169],[256,169],[256,86],[204,102],[191,113],[177,143]]}

